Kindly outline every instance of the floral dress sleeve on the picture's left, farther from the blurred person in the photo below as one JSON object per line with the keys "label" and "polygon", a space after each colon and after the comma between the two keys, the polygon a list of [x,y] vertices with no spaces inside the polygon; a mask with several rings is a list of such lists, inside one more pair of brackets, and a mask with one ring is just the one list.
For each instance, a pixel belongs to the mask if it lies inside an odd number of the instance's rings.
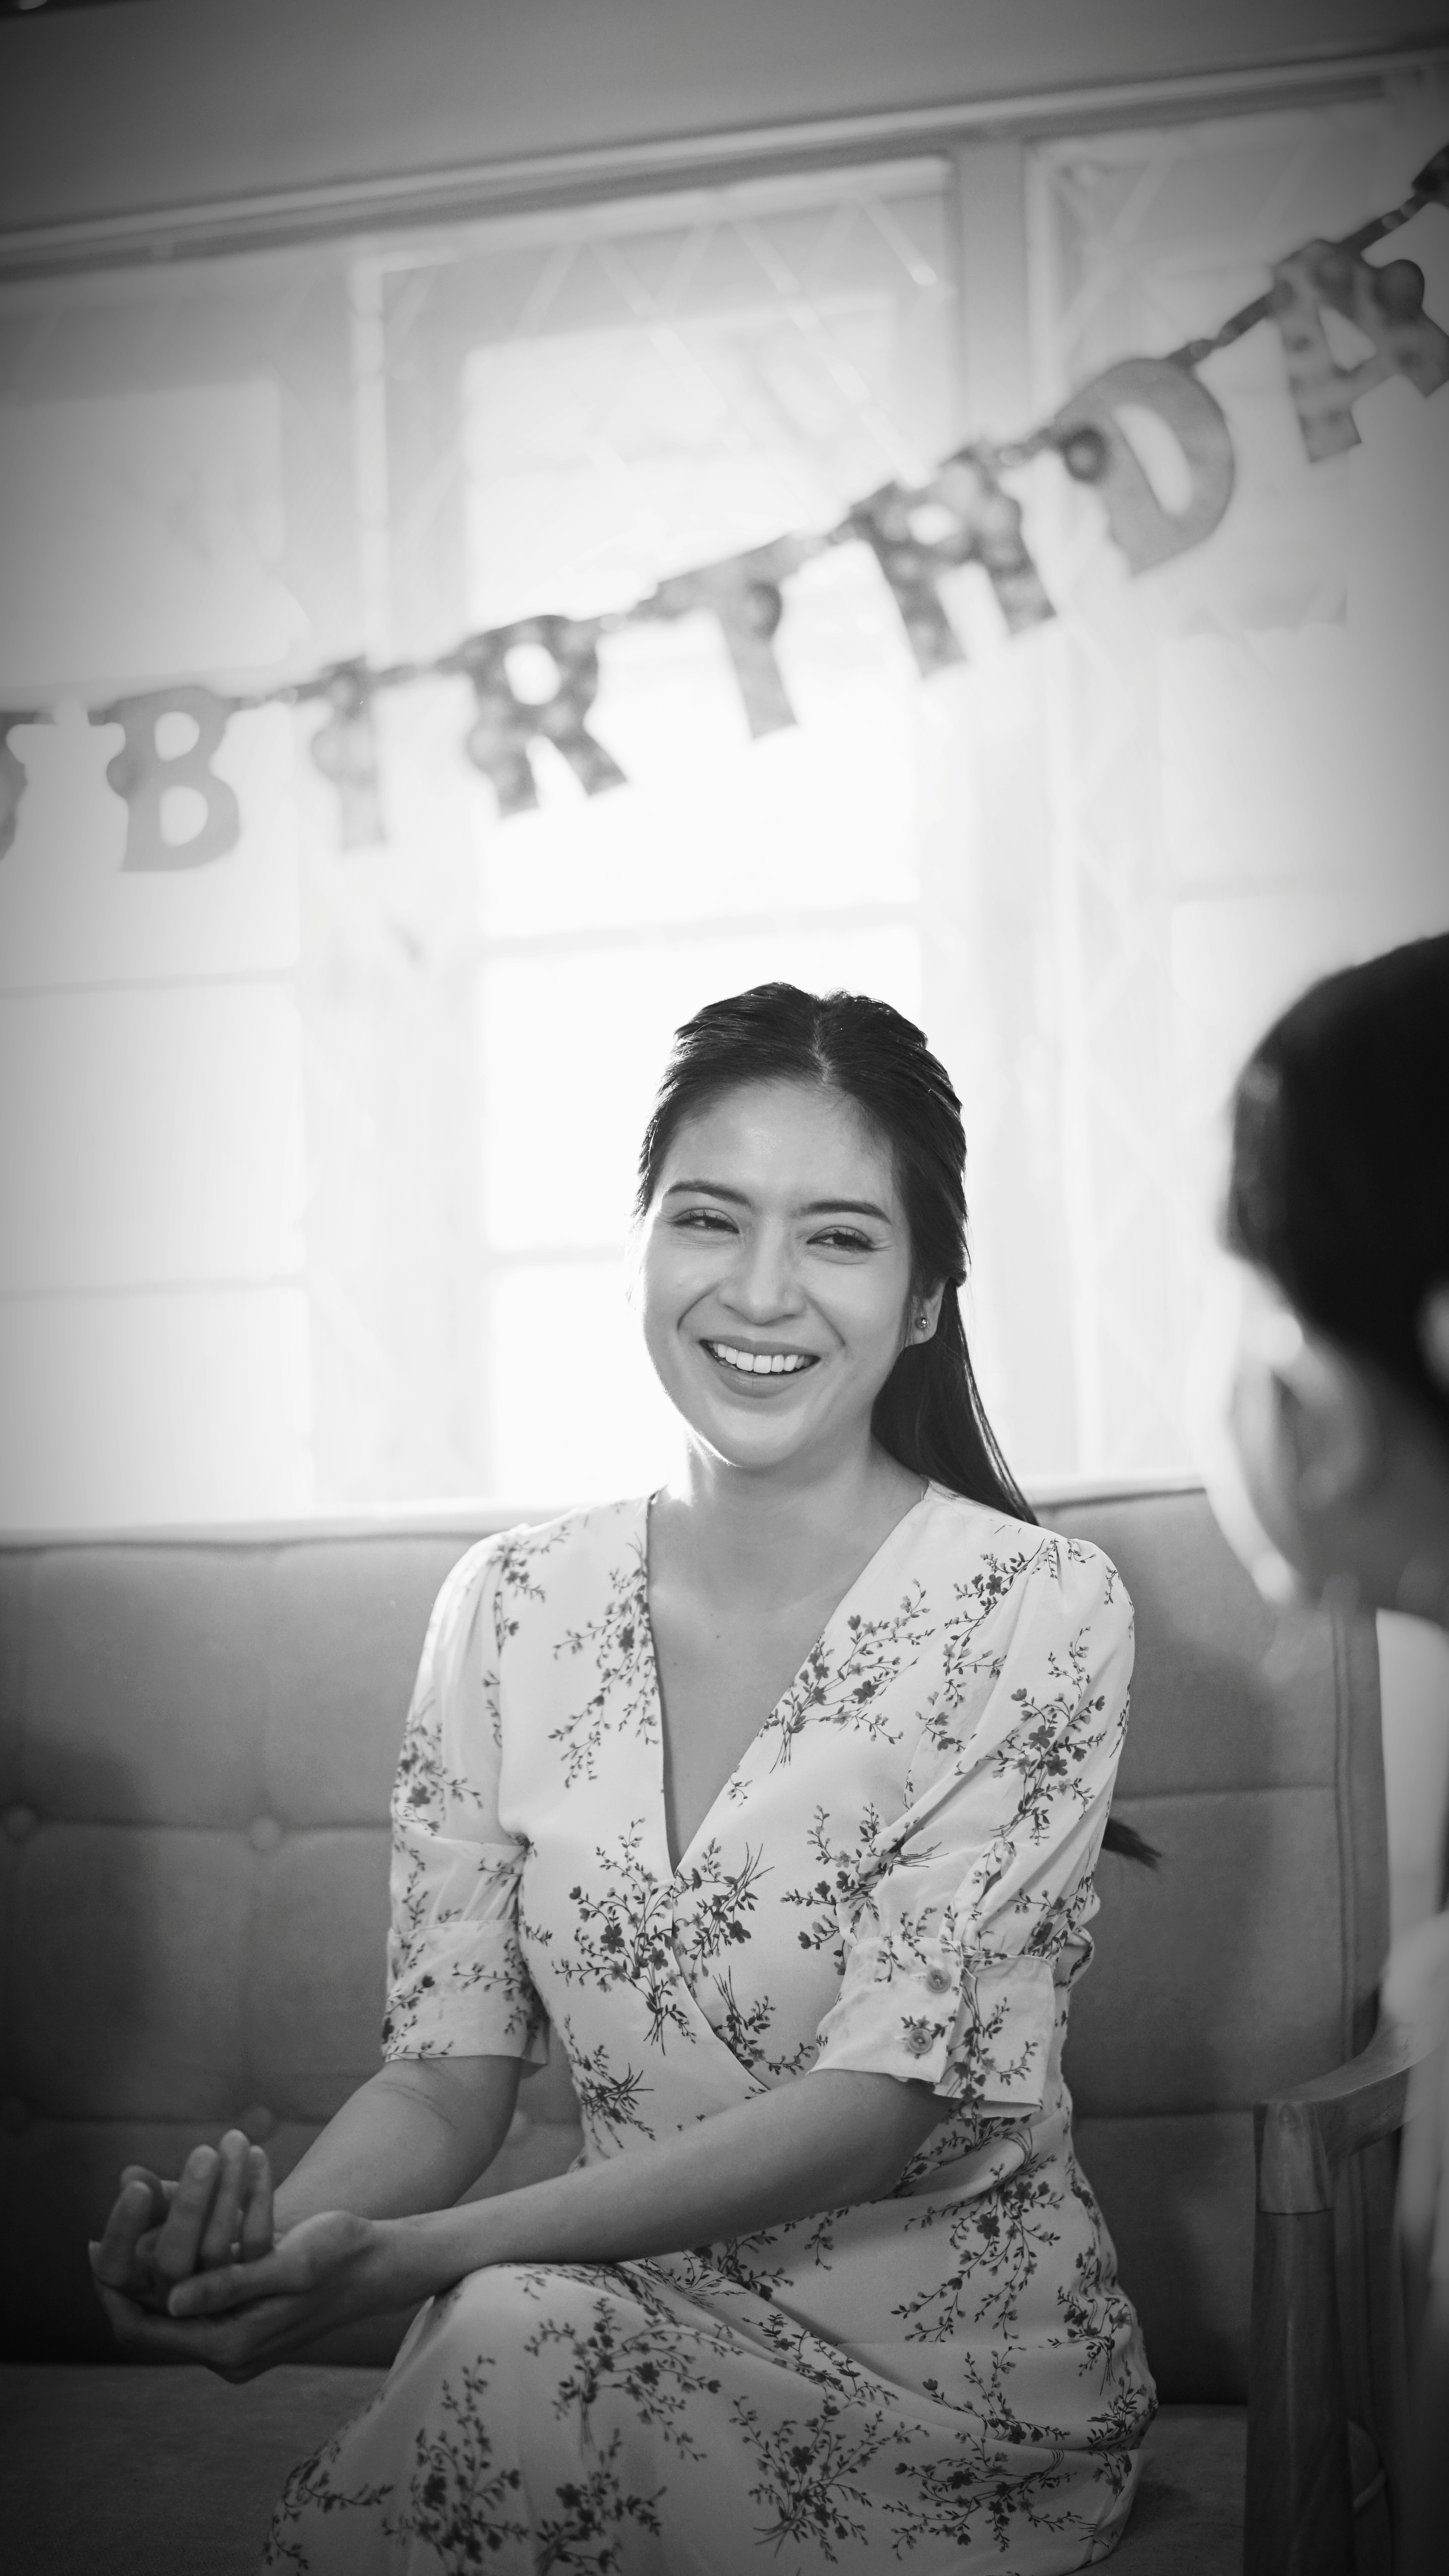
{"label": "floral dress sleeve on the picture's left, farther from the blurred person", "polygon": [[500,1548],[454,1566],[423,1641],[392,1788],[384,2058],[541,2063],[544,2007],[518,1942],[523,1844],[498,1821]]}

